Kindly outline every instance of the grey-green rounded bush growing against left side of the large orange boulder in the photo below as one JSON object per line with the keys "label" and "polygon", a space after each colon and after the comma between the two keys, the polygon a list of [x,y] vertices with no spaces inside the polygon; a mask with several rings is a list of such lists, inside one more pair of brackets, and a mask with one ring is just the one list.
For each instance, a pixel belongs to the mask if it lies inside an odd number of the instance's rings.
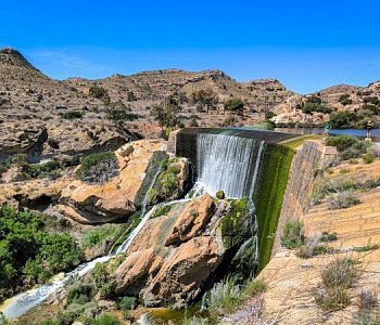
{"label": "grey-green rounded bush growing against left side of the large orange boulder", "polygon": [[105,183],[118,174],[118,164],[113,152],[97,153],[85,157],[77,177],[88,183]]}

